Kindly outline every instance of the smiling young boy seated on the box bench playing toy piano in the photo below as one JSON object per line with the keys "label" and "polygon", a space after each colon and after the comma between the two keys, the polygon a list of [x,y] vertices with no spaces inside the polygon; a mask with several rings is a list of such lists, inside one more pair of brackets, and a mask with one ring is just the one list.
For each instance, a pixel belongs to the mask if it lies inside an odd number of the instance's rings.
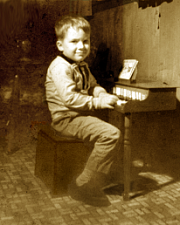
{"label": "smiling young boy seated on the box bench playing toy piano", "polygon": [[69,185],[69,194],[86,204],[109,205],[103,188],[108,184],[120,131],[90,113],[113,109],[119,99],[97,84],[84,62],[90,53],[89,22],[66,16],[56,22],[55,32],[61,54],[50,64],[45,82],[52,127],[62,135],[93,143],[84,171]]}

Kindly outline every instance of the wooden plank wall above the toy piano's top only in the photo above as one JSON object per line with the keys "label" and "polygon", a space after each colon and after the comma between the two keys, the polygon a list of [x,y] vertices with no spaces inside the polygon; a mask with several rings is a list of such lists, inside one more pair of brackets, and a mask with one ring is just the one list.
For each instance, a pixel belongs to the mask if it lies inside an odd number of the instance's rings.
{"label": "wooden plank wall above the toy piano's top only", "polygon": [[134,2],[95,14],[91,23],[97,26],[101,18],[101,41],[111,49],[116,76],[123,59],[136,58],[139,79],[179,82],[179,11],[180,2],[174,0],[145,9]]}

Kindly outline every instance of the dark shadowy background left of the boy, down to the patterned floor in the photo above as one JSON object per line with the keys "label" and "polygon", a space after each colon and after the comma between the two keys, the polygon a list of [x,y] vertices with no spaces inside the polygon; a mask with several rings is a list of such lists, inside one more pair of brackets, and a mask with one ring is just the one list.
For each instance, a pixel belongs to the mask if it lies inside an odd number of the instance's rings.
{"label": "dark shadowy background left of the boy, down to the patterned floor", "polygon": [[[37,135],[34,125],[50,123],[44,81],[47,66],[56,54],[55,20],[68,10],[69,1],[65,0],[0,0],[0,141],[7,133],[16,133],[18,140],[14,139],[19,143],[32,131]],[[26,39],[31,42],[31,62],[23,64],[21,41]],[[18,113],[12,104],[16,74],[20,87]],[[16,116],[16,123],[12,123],[11,115]],[[18,124],[18,132],[12,124]]]}

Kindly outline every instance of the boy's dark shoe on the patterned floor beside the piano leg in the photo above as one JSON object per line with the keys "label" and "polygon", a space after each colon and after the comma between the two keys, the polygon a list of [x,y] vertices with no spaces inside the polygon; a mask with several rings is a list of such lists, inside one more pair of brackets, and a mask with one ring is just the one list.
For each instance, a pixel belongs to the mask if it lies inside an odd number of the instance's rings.
{"label": "boy's dark shoe on the patterned floor beside the piano leg", "polygon": [[77,186],[76,181],[73,180],[68,187],[68,192],[73,199],[82,201],[88,205],[99,207],[111,205],[105,193],[93,180],[82,186]]}

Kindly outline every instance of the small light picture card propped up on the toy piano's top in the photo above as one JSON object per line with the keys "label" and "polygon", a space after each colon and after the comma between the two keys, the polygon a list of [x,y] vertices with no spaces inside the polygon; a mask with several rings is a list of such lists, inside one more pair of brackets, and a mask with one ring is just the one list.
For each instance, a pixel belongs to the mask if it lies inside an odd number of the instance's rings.
{"label": "small light picture card propped up on the toy piano's top", "polygon": [[125,59],[123,61],[123,69],[119,74],[119,80],[126,80],[129,83],[136,82],[137,75],[137,64],[136,59]]}

